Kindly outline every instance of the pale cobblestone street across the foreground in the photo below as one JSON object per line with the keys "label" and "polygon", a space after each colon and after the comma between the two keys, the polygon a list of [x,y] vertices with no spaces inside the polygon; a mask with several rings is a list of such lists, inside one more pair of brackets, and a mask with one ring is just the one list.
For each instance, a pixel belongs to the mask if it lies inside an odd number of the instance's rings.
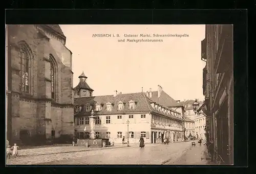
{"label": "pale cobblestone street across the foreground", "polygon": [[[122,148],[120,148],[122,147]],[[164,144],[117,145],[107,148],[84,148],[82,146],[49,147],[33,149],[38,155],[20,150],[24,156],[7,160],[12,165],[93,165],[93,164],[157,164],[157,165],[207,165],[206,146],[191,146],[191,141]],[[70,152],[69,152],[69,151]],[[76,150],[76,151],[75,151]],[[27,155],[26,154],[27,151]],[[32,150],[31,150],[32,151]],[[39,152],[41,151],[41,152]],[[20,154],[21,154],[20,153]],[[30,156],[29,156],[30,154]],[[40,154],[40,155],[39,155]],[[201,160],[202,158],[202,160]]]}

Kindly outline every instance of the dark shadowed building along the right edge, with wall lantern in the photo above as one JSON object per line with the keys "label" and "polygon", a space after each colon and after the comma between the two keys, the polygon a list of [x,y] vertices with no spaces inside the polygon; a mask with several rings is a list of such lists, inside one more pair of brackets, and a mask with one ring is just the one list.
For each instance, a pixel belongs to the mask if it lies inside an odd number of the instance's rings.
{"label": "dark shadowed building along the right edge, with wall lantern", "polygon": [[215,158],[233,164],[233,26],[206,25],[202,40],[203,93],[207,141]]}

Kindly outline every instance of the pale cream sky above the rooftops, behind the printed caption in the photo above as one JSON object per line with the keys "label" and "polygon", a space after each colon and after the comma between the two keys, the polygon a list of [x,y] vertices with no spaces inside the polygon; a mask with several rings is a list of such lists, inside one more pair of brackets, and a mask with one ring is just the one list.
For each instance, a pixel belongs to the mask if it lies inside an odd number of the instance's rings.
{"label": "pale cream sky above the rooftops, behind the printed caption", "polygon": [[[84,72],[93,96],[114,91],[157,91],[161,85],[175,100],[204,100],[205,62],[201,41],[205,25],[60,25],[72,54],[74,87]],[[111,34],[111,37],[93,37]],[[120,37],[113,37],[113,34]],[[134,34],[138,37],[124,37]],[[139,37],[150,34],[151,37]],[[153,34],[186,34],[188,37],[153,37]],[[126,39],[162,39],[162,42],[127,42]],[[119,42],[118,39],[125,39]]]}

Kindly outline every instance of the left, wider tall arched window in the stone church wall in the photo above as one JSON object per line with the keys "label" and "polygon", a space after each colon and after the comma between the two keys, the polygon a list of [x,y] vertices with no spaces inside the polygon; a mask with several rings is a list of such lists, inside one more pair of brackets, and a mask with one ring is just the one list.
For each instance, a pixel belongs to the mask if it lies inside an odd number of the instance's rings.
{"label": "left, wider tall arched window in the stone church wall", "polygon": [[32,59],[32,52],[26,42],[20,42],[18,55],[20,58],[20,90],[29,93],[30,60]]}

